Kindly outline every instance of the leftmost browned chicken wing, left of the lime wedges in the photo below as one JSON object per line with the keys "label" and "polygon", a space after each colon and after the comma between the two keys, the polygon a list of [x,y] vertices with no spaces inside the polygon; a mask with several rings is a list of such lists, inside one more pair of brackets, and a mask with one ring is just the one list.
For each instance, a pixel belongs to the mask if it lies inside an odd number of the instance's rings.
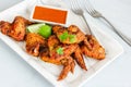
{"label": "leftmost browned chicken wing, left of the lime wedges", "polygon": [[16,16],[13,23],[0,22],[0,30],[13,39],[21,41],[24,40],[25,36],[25,26],[32,24],[29,21],[22,16]]}

